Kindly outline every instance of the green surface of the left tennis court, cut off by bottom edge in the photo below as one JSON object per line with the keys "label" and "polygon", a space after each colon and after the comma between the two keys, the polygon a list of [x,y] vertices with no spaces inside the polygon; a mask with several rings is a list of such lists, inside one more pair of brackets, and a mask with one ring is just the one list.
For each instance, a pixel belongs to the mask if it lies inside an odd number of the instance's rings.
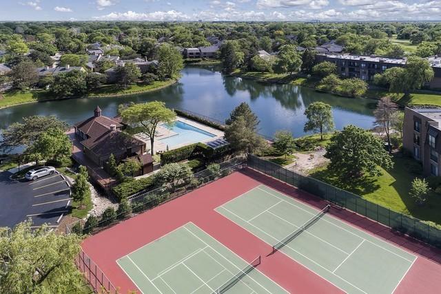
{"label": "green surface of the left tennis court, cut off by bottom edge", "polygon": [[[139,290],[148,294],[217,293],[249,267],[191,222],[117,262]],[[246,273],[225,293],[287,293],[258,269]]]}

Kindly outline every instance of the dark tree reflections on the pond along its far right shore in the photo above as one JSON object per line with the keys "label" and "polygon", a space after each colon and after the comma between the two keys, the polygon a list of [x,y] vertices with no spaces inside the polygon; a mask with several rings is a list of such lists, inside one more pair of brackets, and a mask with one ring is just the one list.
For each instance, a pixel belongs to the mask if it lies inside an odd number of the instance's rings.
{"label": "dark tree reflections on the pond along its far right shore", "polygon": [[308,87],[259,83],[254,80],[232,76],[223,76],[223,85],[229,96],[235,96],[238,91],[245,91],[248,92],[252,100],[256,98],[274,98],[283,107],[294,111],[302,108],[303,105],[307,107],[309,104],[317,101],[367,116],[372,116],[373,109],[376,107],[376,101],[373,99],[346,98],[319,93]]}

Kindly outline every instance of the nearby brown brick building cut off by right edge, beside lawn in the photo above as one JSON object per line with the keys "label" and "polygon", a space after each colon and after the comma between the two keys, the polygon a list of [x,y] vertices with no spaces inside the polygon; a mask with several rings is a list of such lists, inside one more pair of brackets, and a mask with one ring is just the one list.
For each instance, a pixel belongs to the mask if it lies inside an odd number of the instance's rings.
{"label": "nearby brown brick building cut off by right edge, beside lawn", "polygon": [[402,147],[420,161],[424,176],[440,176],[441,109],[404,109]]}

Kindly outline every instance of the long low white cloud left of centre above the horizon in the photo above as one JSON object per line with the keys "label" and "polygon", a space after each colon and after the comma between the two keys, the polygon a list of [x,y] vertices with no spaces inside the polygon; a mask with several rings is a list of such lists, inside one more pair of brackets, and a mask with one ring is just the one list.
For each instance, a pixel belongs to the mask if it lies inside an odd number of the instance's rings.
{"label": "long low white cloud left of centre above the horizon", "polygon": [[101,17],[94,17],[100,21],[188,21],[190,18],[183,12],[176,10],[138,13],[134,11],[111,12]]}

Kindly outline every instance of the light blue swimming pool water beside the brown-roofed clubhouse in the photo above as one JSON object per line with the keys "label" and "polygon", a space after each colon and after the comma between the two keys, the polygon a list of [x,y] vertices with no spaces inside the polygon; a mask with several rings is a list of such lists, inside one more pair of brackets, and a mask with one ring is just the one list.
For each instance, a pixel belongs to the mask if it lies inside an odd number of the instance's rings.
{"label": "light blue swimming pool water beside the brown-roofed clubhouse", "polygon": [[187,125],[181,121],[176,121],[173,125],[164,125],[167,129],[172,130],[177,135],[163,138],[161,142],[167,144],[169,147],[174,147],[181,144],[198,143],[209,138],[216,137],[214,134],[205,132],[202,129]]}

